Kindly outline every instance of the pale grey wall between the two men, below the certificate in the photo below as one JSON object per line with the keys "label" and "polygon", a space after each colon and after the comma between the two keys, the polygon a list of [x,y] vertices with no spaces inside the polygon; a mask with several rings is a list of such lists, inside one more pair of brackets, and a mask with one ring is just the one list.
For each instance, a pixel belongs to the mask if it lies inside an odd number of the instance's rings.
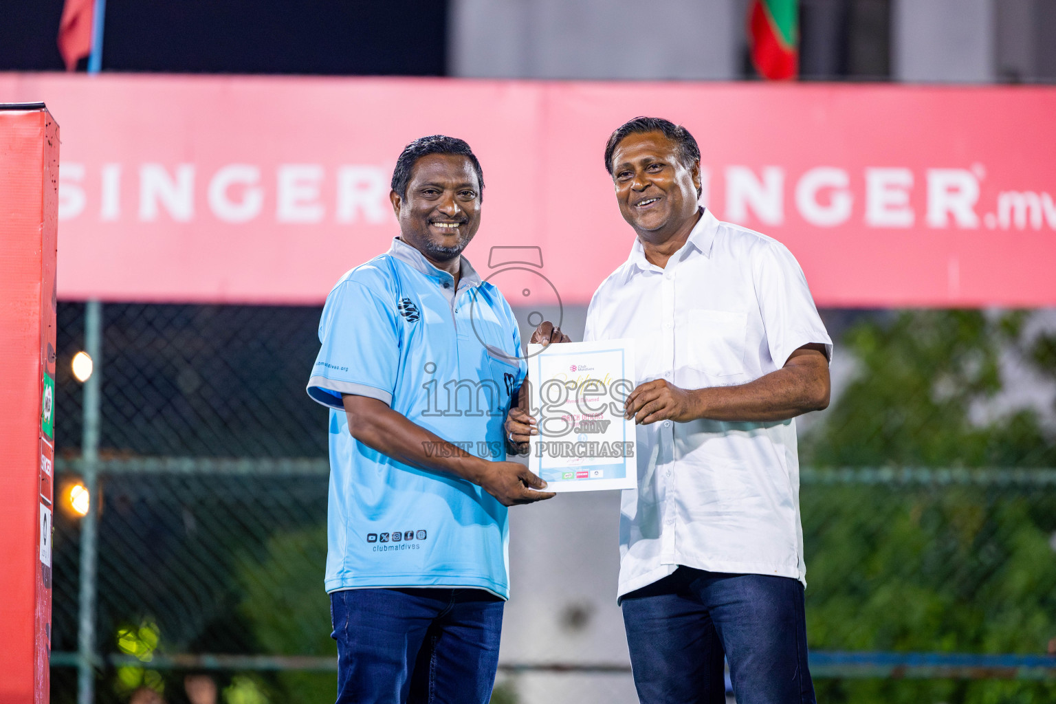
{"label": "pale grey wall between the two men, below the certificate", "polygon": [[[499,662],[629,665],[616,605],[620,492],[510,510],[510,601]],[[506,678],[503,678],[506,679]],[[630,673],[526,673],[522,704],[636,704]]]}

